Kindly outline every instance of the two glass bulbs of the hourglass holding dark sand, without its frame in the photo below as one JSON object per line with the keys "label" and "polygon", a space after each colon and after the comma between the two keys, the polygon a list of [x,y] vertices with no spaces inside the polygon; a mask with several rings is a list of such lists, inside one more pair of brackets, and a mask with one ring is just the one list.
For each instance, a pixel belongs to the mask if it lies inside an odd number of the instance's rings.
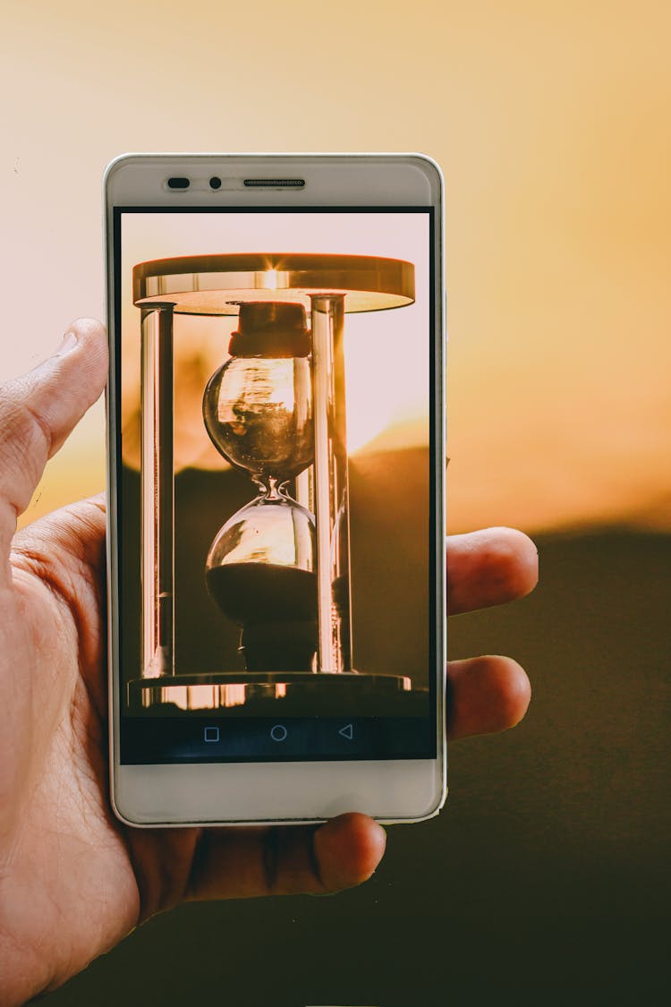
{"label": "two glass bulbs of the hourglass holding dark sand, without its frame", "polygon": [[287,488],[314,460],[310,351],[302,304],[243,303],[230,359],[203,395],[214,446],[258,486],[206,560],[210,594],[241,627],[248,672],[309,672],[317,651],[315,518]]}

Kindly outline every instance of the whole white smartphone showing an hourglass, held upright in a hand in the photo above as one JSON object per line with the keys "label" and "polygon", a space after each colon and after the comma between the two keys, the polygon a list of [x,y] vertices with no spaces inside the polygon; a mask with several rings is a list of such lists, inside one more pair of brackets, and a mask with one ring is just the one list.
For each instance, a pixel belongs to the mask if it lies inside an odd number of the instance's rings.
{"label": "whole white smartphone showing an hourglass, held upright in a hand", "polygon": [[437,814],[440,168],[130,154],[104,188],[117,816]]}

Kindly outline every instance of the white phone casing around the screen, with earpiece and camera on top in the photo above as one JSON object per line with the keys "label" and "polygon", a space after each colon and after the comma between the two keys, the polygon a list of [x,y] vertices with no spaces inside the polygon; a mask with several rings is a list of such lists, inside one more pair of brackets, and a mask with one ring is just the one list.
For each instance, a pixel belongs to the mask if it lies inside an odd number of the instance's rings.
{"label": "white phone casing around the screen, with earpiece and camera on top", "polygon": [[[209,186],[216,174],[218,189]],[[169,190],[170,175],[192,177],[186,190]],[[303,188],[245,187],[244,178],[306,179]],[[445,611],[445,346],[444,181],[423,154],[126,154],[108,165],[104,180],[109,332],[116,330],[113,210],[115,206],[272,205],[434,206],[436,319],[437,611]],[[116,388],[111,338],[110,385]],[[360,811],[384,823],[416,822],[438,814],[447,797],[445,729],[445,619],[437,618],[437,758],[355,761],[121,764],[118,671],[117,458],[115,396],[108,413],[108,611],[111,798],[128,825],[280,825],[321,822]]]}

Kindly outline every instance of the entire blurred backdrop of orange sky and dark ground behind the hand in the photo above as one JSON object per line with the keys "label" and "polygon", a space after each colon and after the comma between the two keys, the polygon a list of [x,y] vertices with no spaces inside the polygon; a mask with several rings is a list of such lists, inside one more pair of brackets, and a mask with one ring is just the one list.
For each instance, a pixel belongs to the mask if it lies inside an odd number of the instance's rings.
{"label": "entire blurred backdrop of orange sky and dark ground behind the hand", "polygon": [[[657,1004],[668,923],[671,7],[5,0],[0,378],[104,315],[101,180],[133,150],[394,151],[447,181],[449,530],[541,585],[451,622],[525,722],[360,890],[188,905],[58,1004]],[[31,521],[104,484],[96,406]]]}

